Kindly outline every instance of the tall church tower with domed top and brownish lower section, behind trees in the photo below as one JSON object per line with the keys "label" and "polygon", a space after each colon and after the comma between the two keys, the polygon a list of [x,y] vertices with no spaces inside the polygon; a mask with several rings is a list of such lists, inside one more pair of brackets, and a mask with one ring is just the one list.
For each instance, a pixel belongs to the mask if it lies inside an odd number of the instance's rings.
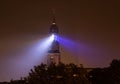
{"label": "tall church tower with domed top and brownish lower section, behind trees", "polygon": [[59,30],[56,25],[55,17],[53,17],[53,21],[49,33],[51,35],[54,35],[54,40],[48,51],[47,64],[50,65],[51,63],[54,63],[55,65],[58,65],[60,63],[60,50],[59,50],[59,42],[58,42]]}

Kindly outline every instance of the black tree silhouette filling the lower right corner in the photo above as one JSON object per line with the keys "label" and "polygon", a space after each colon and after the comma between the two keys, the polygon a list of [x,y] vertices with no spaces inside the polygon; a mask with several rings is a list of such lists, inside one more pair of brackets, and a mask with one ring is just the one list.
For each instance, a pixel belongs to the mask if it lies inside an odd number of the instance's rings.
{"label": "black tree silhouette filling the lower right corner", "polygon": [[120,60],[114,59],[107,68],[95,68],[88,76],[92,84],[120,84]]}

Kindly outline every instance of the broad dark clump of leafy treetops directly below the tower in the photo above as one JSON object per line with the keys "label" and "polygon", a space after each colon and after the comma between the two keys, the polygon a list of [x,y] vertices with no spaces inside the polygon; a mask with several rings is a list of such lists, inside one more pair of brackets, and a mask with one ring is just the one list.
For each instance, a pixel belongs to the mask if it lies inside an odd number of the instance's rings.
{"label": "broad dark clump of leafy treetops directly below the tower", "polygon": [[31,69],[27,81],[28,84],[89,84],[83,72],[83,68],[73,63],[41,64]]}

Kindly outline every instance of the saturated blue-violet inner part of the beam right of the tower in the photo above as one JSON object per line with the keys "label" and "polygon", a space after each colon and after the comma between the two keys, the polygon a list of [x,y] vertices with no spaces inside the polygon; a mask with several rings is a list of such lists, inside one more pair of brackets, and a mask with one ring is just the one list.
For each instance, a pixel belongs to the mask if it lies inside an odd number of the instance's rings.
{"label": "saturated blue-violet inner part of the beam right of the tower", "polygon": [[71,54],[88,52],[88,46],[85,44],[63,36],[59,36],[59,43],[63,48],[71,52]]}

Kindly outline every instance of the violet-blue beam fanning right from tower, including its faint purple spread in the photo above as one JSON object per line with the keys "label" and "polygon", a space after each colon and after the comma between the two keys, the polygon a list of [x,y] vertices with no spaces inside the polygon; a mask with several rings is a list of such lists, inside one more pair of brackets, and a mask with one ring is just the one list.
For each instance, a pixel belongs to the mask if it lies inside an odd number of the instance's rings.
{"label": "violet-blue beam fanning right from tower, including its faint purple spread", "polygon": [[68,53],[70,56],[69,58],[76,60],[75,62],[78,61],[78,63],[83,62],[83,64],[87,64],[88,61],[85,60],[92,61],[93,59],[96,59],[96,57],[92,58],[91,56],[95,50],[93,49],[93,46],[90,46],[89,44],[78,42],[64,36],[59,36],[59,43],[65,50],[64,52]]}

